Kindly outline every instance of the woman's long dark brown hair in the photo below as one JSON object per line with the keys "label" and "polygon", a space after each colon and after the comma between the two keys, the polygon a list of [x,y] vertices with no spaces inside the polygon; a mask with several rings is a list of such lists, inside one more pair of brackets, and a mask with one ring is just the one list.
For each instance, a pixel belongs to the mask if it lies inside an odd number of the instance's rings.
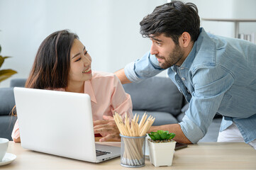
{"label": "woman's long dark brown hair", "polygon": [[[57,89],[67,87],[70,69],[70,50],[74,39],[79,39],[69,30],[50,34],[38,48],[35,62],[25,87],[32,89]],[[16,106],[11,111],[16,115]]]}

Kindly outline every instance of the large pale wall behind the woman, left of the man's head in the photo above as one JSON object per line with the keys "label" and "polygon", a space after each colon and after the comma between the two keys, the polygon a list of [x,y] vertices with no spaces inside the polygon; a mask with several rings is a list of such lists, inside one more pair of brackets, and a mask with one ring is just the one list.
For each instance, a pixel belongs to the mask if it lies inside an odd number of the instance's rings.
{"label": "large pale wall behind the woman, left of the man's head", "polygon": [[[1,55],[12,56],[1,69],[27,78],[40,45],[50,33],[69,29],[92,57],[92,69],[115,72],[150,50],[139,22],[166,0],[0,0]],[[0,87],[9,86],[2,81]]]}

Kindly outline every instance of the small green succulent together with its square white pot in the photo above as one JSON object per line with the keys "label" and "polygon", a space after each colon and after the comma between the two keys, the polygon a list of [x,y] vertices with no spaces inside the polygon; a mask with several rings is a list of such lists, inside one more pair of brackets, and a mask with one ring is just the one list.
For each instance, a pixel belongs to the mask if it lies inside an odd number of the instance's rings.
{"label": "small green succulent together with its square white pot", "polygon": [[176,142],[172,140],[174,133],[164,130],[148,134],[148,147],[150,148],[150,162],[154,166],[171,166]]}

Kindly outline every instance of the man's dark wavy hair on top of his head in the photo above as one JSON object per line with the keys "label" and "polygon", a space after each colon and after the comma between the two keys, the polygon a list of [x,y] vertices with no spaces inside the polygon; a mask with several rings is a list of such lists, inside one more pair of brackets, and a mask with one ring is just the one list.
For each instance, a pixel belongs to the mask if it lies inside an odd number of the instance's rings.
{"label": "man's dark wavy hair on top of his head", "polygon": [[140,22],[140,33],[143,37],[155,37],[162,33],[172,38],[176,45],[179,37],[187,32],[191,41],[195,42],[200,33],[200,18],[195,4],[184,4],[182,1],[172,1],[155,10]]}

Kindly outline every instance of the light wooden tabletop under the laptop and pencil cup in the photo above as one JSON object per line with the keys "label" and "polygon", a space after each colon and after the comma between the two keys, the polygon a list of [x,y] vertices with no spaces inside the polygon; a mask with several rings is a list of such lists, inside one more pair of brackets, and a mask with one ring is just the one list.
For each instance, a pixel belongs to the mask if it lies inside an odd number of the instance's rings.
{"label": "light wooden tabletop under the laptop and pencil cup", "polygon": [[[120,147],[120,142],[104,143]],[[7,152],[17,158],[0,169],[129,169],[120,165],[120,157],[94,164],[33,152],[14,142],[9,142]],[[256,150],[243,142],[199,142],[177,150],[172,166],[155,167],[146,159],[137,169],[256,169]]]}

